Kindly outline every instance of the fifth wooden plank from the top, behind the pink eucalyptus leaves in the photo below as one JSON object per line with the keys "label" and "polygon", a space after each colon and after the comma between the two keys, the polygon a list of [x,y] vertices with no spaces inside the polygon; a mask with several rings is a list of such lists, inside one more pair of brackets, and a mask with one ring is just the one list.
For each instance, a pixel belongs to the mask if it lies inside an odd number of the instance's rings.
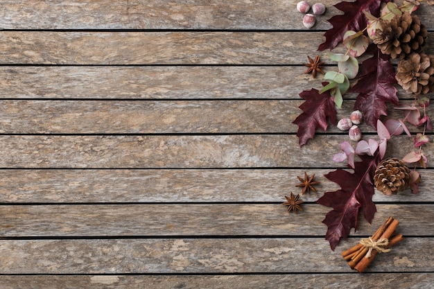
{"label": "fifth wooden plank from the top, behind the pink eucalyptus leaves", "polygon": [[[299,150],[293,134],[2,135],[0,168],[345,167],[332,157],[347,140],[346,135],[317,135]],[[412,139],[395,137],[386,157],[403,157],[409,150]],[[434,143],[426,143],[424,152],[428,159],[433,157]]]}

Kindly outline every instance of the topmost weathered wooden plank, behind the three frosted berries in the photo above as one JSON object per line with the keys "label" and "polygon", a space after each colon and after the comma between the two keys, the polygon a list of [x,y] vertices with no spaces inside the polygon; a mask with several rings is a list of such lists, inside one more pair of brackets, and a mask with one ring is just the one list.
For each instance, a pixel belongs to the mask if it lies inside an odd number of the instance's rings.
{"label": "topmost weathered wooden plank, behind the three frosted berries", "polygon": [[[325,15],[315,29],[328,29],[326,21],[340,1],[323,0]],[[306,29],[297,1],[2,1],[3,29]],[[425,3],[424,3],[425,4]],[[430,9],[421,5],[417,15],[434,27]]]}

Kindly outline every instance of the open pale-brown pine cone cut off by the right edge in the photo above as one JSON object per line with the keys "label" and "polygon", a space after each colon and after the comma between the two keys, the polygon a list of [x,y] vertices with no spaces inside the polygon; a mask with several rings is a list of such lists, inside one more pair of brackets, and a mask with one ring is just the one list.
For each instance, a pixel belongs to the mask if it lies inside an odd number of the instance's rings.
{"label": "open pale-brown pine cone cut off by the right edge", "polygon": [[408,94],[428,94],[434,91],[434,55],[413,53],[398,63],[395,78]]}

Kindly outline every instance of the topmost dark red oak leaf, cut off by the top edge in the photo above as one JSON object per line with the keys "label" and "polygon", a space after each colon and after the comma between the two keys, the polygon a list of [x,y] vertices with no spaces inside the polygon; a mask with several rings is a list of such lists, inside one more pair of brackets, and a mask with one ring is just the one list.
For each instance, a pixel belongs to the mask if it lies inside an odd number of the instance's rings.
{"label": "topmost dark red oak leaf, cut off by the top edge", "polygon": [[342,40],[348,30],[360,31],[367,26],[367,19],[363,13],[367,10],[372,15],[378,17],[381,3],[390,0],[356,0],[354,2],[342,1],[334,5],[343,11],[342,15],[335,15],[328,21],[333,28],[324,33],[326,40],[318,46],[319,51],[335,48]]}

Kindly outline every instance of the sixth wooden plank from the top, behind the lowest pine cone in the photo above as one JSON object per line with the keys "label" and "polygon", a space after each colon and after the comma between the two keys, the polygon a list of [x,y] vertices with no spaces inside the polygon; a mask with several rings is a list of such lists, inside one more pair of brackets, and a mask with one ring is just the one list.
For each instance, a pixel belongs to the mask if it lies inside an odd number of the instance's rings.
{"label": "sixth wooden plank from the top, behind the lowest pine cone", "polygon": [[[326,191],[340,189],[324,174],[333,169],[306,169],[320,184],[318,193],[302,199],[315,202]],[[150,169],[150,170],[0,170],[0,203],[110,203],[110,202],[281,202],[303,177],[302,169]],[[419,170],[417,195],[410,190],[375,202],[434,202],[432,169]]]}

